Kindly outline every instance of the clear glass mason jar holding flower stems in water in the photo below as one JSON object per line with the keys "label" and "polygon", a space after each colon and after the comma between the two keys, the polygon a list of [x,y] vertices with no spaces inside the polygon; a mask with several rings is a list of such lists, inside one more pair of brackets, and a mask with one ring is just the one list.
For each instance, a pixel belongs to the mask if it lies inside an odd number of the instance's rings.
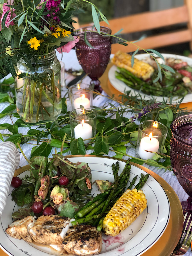
{"label": "clear glass mason jar holding flower stems in water", "polygon": [[55,120],[62,109],[60,62],[53,51],[31,64],[33,70],[21,58],[15,67],[17,113],[27,123]]}

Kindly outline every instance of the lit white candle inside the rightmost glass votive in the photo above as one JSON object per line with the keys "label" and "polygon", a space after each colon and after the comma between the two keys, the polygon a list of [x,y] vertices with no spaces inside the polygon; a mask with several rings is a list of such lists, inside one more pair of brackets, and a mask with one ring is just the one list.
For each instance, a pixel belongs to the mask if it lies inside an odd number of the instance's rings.
{"label": "lit white candle inside the rightmost glass votive", "polygon": [[140,141],[139,151],[138,154],[141,159],[152,159],[155,155],[154,153],[150,153],[144,150],[158,152],[159,149],[159,141],[156,138],[152,137],[152,132],[149,136],[145,136]]}

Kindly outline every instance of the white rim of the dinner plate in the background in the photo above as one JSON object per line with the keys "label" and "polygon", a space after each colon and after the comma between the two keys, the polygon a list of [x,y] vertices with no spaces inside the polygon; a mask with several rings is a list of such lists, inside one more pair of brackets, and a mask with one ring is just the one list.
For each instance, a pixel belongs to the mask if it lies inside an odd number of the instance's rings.
{"label": "white rim of the dinner plate in the background", "polygon": [[[168,54],[168,53],[163,53],[162,55],[164,56],[164,58],[181,59],[183,61],[186,61],[188,63],[188,65],[192,66],[192,59],[191,58],[188,58],[188,57],[185,57],[185,56],[180,56],[180,55],[175,55],[175,54]],[[135,55],[135,58],[137,58],[138,60],[143,60],[147,57],[149,57],[148,53]],[[163,100],[165,100],[167,103],[170,102],[170,99],[168,97],[148,95],[148,94],[145,94],[143,92],[139,92],[138,90],[132,89],[131,87],[126,85],[124,82],[122,82],[121,80],[119,80],[115,77],[115,71],[118,71],[118,70],[117,70],[117,67],[115,65],[113,65],[109,69],[108,78],[109,78],[109,82],[112,84],[112,86],[116,90],[118,90],[119,92],[124,93],[124,92],[127,92],[127,91],[131,91],[130,95],[137,96],[138,99],[144,99],[144,100],[156,99],[156,101],[158,101],[158,102],[162,102]],[[185,95],[184,99],[182,100],[182,103],[191,102],[191,100],[192,100],[192,93],[189,93],[189,94]],[[180,101],[179,96],[172,98],[172,103],[173,104],[178,103],[179,101]]]}

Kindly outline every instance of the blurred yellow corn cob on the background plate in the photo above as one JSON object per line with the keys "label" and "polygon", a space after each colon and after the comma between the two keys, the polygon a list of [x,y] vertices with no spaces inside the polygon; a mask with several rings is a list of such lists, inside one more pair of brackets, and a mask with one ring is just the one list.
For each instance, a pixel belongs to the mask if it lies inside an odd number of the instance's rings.
{"label": "blurred yellow corn cob on the background plate", "polygon": [[131,65],[131,55],[126,52],[118,51],[111,60],[119,68],[125,68],[130,71],[134,76],[140,77],[146,80],[151,77],[154,72],[154,68],[148,63],[141,60],[134,59],[133,66]]}

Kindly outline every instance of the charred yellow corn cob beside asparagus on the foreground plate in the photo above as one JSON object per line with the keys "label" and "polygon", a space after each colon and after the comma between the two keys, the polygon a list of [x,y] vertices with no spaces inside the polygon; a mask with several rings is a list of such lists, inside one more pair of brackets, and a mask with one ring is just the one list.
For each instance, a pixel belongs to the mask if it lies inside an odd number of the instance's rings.
{"label": "charred yellow corn cob beside asparagus on the foreground plate", "polygon": [[140,189],[127,189],[116,201],[103,220],[103,230],[108,236],[116,236],[147,207],[147,199]]}

